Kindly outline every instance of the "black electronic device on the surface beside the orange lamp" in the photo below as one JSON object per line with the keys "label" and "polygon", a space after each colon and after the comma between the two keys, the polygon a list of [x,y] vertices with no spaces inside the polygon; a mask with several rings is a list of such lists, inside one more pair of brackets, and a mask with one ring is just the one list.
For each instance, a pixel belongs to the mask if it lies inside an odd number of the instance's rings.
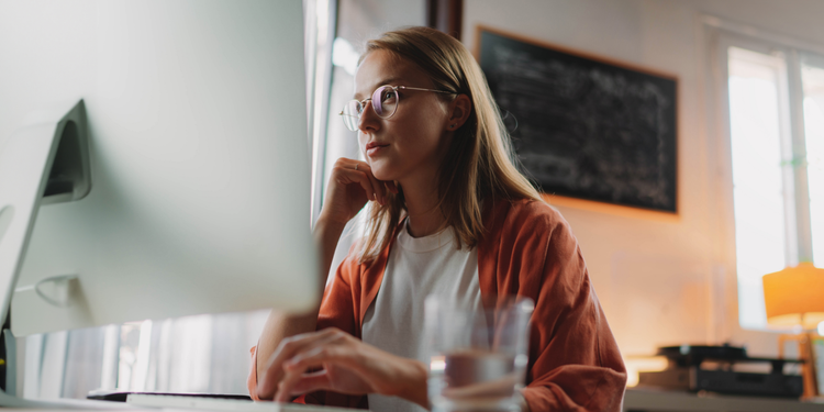
{"label": "black electronic device on the surface beside the orange lamp", "polygon": [[[784,398],[800,398],[804,391],[801,376],[783,371],[786,364],[803,360],[754,358],[747,356],[745,348],[728,345],[667,346],[658,348],[657,355],[667,357],[667,369],[639,372],[638,386]],[[769,374],[733,370],[735,364],[744,363],[770,363],[771,370]]]}

